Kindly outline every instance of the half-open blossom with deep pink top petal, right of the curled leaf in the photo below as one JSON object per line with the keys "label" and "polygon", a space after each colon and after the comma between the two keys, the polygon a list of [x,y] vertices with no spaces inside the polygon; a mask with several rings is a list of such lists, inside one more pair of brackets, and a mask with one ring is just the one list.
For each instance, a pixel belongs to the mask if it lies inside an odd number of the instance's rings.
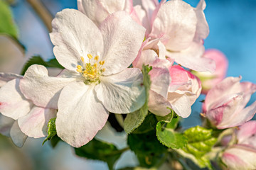
{"label": "half-open blossom with deep pink top petal, right of the curled leaf", "polygon": [[178,65],[169,69],[153,68],[149,91],[149,111],[156,115],[167,115],[171,108],[177,115],[187,118],[191,106],[201,93],[201,82],[191,72]]}

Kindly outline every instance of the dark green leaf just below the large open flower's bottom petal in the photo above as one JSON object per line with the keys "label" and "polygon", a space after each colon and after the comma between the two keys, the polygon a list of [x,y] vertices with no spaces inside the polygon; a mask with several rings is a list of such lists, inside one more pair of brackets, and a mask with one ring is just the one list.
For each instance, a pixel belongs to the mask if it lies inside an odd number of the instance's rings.
{"label": "dark green leaf just below the large open flower's bottom petal", "polygon": [[113,169],[114,163],[127,149],[118,150],[114,145],[100,140],[91,140],[87,145],[75,148],[75,154],[87,159],[95,159],[107,162],[109,169]]}

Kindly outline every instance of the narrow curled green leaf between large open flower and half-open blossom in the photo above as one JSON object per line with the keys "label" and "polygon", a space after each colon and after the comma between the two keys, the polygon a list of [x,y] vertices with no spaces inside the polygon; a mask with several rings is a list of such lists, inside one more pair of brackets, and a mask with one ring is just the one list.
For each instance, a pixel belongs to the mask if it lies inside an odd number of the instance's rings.
{"label": "narrow curled green leaf between large open flower and half-open blossom", "polygon": [[139,125],[143,123],[146,115],[148,114],[149,89],[151,84],[149,71],[151,69],[151,67],[145,65],[142,66],[143,85],[146,91],[146,101],[144,106],[142,106],[142,108],[140,108],[138,111],[127,114],[127,117],[124,120],[124,130],[128,134],[138,128]]}

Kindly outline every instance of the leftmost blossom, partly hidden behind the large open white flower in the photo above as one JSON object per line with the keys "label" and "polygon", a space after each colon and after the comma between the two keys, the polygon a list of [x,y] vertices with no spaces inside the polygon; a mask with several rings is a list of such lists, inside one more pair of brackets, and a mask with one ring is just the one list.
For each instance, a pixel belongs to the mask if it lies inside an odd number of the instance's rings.
{"label": "leftmost blossom, partly hidden behind the large open white flower", "polygon": [[10,136],[18,147],[23,146],[28,136],[46,136],[48,120],[55,117],[56,111],[34,106],[27,100],[19,89],[21,76],[3,73],[0,75],[4,80],[11,79],[0,89],[0,132]]}

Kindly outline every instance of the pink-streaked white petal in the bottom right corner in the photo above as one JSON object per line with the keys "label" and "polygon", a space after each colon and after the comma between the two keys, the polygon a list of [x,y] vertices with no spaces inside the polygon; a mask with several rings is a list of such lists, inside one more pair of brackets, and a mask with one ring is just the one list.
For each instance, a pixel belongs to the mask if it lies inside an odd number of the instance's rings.
{"label": "pink-streaked white petal in the bottom right corner", "polygon": [[225,150],[222,161],[229,169],[256,169],[256,149],[233,145]]}

